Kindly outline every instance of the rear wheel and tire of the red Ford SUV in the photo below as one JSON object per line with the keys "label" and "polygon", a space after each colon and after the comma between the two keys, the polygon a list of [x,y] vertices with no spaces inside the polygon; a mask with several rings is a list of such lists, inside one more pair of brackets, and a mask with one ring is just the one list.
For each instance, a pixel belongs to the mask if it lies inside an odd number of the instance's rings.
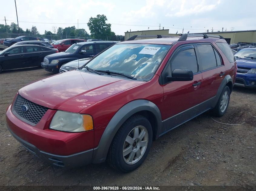
{"label": "rear wheel and tire of the red Ford SUV", "polygon": [[228,86],[225,86],[221,92],[221,95],[219,97],[219,100],[216,106],[212,110],[214,116],[221,117],[226,113],[228,109],[229,100],[230,100],[230,89]]}

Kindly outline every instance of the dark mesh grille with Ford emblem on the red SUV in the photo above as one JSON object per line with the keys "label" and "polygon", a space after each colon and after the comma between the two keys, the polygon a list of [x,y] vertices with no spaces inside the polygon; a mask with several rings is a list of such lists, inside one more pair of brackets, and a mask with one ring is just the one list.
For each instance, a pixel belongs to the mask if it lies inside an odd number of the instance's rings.
{"label": "dark mesh grille with Ford emblem on the red SUV", "polygon": [[[22,105],[27,106],[28,110],[25,112],[22,111]],[[17,97],[14,109],[24,119],[27,119],[28,121],[35,124],[37,124],[42,119],[45,112],[48,110],[47,107],[43,107],[41,105],[33,103],[20,95],[18,95]]]}

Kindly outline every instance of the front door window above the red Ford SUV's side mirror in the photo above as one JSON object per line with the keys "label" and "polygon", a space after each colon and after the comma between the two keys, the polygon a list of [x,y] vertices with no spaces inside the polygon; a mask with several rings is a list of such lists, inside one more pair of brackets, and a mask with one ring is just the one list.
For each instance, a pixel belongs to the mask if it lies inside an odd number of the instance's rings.
{"label": "front door window above the red Ford SUV's side mirror", "polygon": [[198,72],[197,60],[194,48],[178,52],[171,61],[171,71],[175,69],[191,70]]}

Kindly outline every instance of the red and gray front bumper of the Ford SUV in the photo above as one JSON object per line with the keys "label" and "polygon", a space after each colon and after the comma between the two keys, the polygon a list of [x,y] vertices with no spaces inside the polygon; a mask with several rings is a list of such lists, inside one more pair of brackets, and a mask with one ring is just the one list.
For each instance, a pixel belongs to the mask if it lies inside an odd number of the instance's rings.
{"label": "red and gray front bumper of the Ford SUV", "polygon": [[90,164],[93,156],[94,131],[68,133],[48,129],[48,110],[38,124],[31,126],[12,111],[6,112],[6,125],[11,134],[28,151],[49,164],[60,167],[79,167]]}

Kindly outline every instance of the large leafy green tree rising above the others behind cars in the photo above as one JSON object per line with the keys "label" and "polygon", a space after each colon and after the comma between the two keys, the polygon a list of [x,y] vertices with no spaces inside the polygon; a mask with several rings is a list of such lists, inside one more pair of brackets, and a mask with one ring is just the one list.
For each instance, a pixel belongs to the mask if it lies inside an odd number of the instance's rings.
{"label": "large leafy green tree rising above the others behind cars", "polygon": [[98,39],[107,39],[111,36],[111,24],[106,24],[107,17],[102,14],[98,14],[96,18],[90,18],[87,23],[91,36]]}

